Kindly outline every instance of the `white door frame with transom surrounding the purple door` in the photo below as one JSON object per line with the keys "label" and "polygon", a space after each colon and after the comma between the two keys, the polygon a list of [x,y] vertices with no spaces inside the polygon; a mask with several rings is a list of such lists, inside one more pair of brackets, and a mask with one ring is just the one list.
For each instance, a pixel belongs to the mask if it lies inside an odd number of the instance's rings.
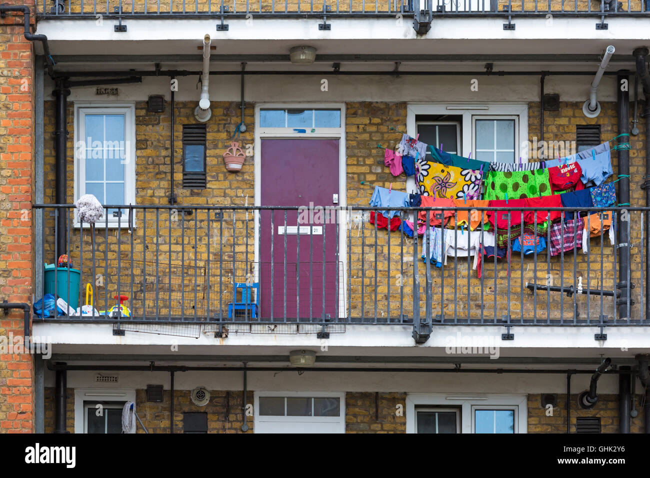
{"label": "white door frame with transom surrounding the purple door", "polygon": [[[282,127],[282,128],[272,128],[266,127],[263,128],[259,126],[259,111],[261,109],[268,108],[277,108],[277,109],[340,109],[341,110],[341,127],[338,128],[316,128],[316,131],[313,133],[307,129],[306,133],[296,133],[292,127]],[[346,175],[346,165],[347,165],[347,155],[345,149],[345,103],[255,103],[255,143],[253,147],[253,168],[254,168],[254,179],[253,179],[253,194],[255,194],[254,205],[261,206],[261,144],[263,139],[338,139],[339,140],[339,204],[337,206],[344,208],[348,205],[347,203],[347,175]],[[326,206],[322,204],[321,206]],[[259,263],[259,231],[257,224],[259,222],[259,213],[255,211],[255,263]],[[346,228],[343,218],[346,217],[343,213],[339,214],[339,262],[343,263],[343,274],[341,276],[341,281],[339,283],[339,288],[343,290],[343,312],[347,315],[346,310],[346,299],[345,293],[346,289],[344,284],[346,284],[346,264],[347,264],[347,249],[346,249]],[[338,269],[338,265],[337,265]],[[259,271],[257,271],[259,272]],[[337,271],[338,273],[338,271]],[[341,303],[339,298],[339,291],[337,293],[337,308],[341,310]],[[339,312],[341,315],[341,312]]]}

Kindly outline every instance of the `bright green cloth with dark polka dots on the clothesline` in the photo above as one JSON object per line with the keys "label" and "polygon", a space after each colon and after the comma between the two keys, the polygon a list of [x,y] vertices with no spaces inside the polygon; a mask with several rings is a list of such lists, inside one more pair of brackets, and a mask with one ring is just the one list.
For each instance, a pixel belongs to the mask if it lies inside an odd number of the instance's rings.
{"label": "bright green cloth with dark polka dots on the clothesline", "polygon": [[486,174],[484,200],[521,199],[551,196],[549,170],[500,172],[490,171]]}

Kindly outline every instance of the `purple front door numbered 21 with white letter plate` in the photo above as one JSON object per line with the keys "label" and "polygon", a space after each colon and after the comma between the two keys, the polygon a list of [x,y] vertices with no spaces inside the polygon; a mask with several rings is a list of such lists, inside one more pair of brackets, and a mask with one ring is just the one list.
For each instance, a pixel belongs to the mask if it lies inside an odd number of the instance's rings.
{"label": "purple front door numbered 21 with white letter plate", "polygon": [[337,206],[334,194],[339,194],[339,140],[261,140],[261,206],[304,208],[300,224],[296,210],[286,211],[286,223],[284,210],[261,211],[258,302],[263,319],[338,317],[337,217],[324,211]]}

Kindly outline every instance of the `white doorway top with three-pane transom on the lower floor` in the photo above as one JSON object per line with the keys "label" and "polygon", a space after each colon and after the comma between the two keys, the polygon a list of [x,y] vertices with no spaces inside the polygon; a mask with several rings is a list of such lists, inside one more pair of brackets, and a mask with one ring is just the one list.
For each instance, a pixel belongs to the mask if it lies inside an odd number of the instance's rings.
{"label": "white doorway top with three-pane transom on the lower floor", "polygon": [[255,392],[255,433],[344,433],[345,393]]}

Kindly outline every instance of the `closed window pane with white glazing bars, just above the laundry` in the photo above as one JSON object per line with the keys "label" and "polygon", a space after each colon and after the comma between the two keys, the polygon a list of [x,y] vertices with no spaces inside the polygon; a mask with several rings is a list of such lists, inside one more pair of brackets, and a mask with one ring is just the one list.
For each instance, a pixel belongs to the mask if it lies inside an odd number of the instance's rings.
{"label": "closed window pane with white glazing bars, just above the laundry", "polygon": [[517,155],[515,118],[474,117],[474,150],[478,161],[514,163]]}

